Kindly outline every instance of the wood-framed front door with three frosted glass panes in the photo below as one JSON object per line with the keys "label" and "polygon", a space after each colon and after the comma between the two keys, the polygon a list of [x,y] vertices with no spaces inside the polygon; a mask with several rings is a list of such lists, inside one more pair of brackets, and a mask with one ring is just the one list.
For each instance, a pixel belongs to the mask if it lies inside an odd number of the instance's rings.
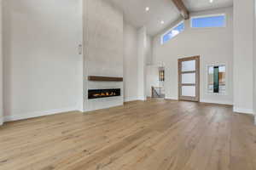
{"label": "wood-framed front door with three frosted glass panes", "polygon": [[178,99],[199,101],[200,56],[178,59]]}

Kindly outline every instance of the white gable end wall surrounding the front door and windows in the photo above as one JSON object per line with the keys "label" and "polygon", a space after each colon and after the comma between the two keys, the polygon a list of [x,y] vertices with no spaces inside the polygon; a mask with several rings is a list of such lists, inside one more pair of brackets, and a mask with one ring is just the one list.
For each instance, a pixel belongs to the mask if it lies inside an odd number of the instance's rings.
{"label": "white gable end wall surrounding the front door and windows", "polygon": [[[207,12],[193,13],[191,16],[204,14],[227,14],[227,26],[224,28],[193,29],[189,20],[185,21],[185,31],[164,45],[160,44],[160,35],[154,37],[153,60],[161,62],[166,69],[166,98],[177,99],[178,77],[177,59],[195,55],[201,56],[201,101],[210,103],[233,104],[233,11],[221,8]],[[178,21],[177,21],[178,22]],[[174,25],[177,23],[174,23]],[[174,26],[172,25],[172,26]],[[168,29],[172,28],[168,27]],[[166,29],[166,30],[168,30]],[[227,66],[227,94],[207,94],[207,65],[225,64]]]}

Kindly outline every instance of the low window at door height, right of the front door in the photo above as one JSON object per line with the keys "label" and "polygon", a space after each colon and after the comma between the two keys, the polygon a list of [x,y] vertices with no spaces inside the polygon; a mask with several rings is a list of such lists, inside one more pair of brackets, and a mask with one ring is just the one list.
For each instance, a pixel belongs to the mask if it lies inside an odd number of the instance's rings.
{"label": "low window at door height, right of the front door", "polygon": [[226,93],[226,66],[211,65],[208,66],[208,93],[225,94]]}

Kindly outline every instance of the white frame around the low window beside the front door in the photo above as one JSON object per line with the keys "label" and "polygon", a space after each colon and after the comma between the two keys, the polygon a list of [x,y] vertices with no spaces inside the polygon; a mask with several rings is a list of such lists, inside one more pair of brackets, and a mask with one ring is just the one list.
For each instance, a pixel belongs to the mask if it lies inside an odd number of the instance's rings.
{"label": "white frame around the low window beside the front door", "polygon": [[[209,80],[209,67],[211,66],[225,66],[225,92],[223,94],[220,94],[220,93],[214,93],[214,92],[209,92],[208,90],[208,80]],[[220,96],[227,96],[229,95],[229,74],[228,74],[228,65],[226,63],[216,63],[216,64],[210,64],[210,65],[207,65],[207,75],[206,75],[206,90],[207,90],[207,93],[208,95],[220,95]]]}

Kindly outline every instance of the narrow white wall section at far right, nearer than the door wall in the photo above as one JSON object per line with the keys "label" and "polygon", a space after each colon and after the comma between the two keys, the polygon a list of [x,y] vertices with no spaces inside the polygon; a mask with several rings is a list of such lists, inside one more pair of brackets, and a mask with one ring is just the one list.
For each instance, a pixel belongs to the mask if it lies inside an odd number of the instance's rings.
{"label": "narrow white wall section at far right, nearer than the door wall", "polygon": [[253,113],[253,0],[234,0],[234,111]]}

